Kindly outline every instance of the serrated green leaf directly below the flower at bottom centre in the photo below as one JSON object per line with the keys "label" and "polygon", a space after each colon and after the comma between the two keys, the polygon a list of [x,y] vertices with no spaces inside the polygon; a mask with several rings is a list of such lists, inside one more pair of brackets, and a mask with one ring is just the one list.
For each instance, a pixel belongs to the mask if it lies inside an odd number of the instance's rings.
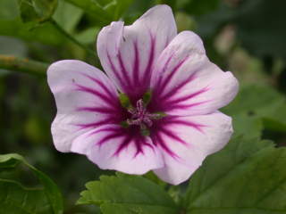
{"label": "serrated green leaf directly below the flower at bottom centre", "polygon": [[177,214],[178,207],[161,186],[144,177],[118,174],[89,182],[78,204],[96,204],[104,214]]}

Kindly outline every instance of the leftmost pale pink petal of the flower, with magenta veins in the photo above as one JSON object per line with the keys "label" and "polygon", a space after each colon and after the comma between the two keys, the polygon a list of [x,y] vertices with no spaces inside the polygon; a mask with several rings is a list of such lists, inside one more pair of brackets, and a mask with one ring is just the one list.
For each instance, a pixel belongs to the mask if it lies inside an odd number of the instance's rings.
{"label": "leftmost pale pink petal of the flower, with magenta veins", "polygon": [[85,62],[65,60],[48,68],[47,81],[57,107],[52,124],[57,150],[69,152],[75,137],[120,120],[116,88],[102,71]]}

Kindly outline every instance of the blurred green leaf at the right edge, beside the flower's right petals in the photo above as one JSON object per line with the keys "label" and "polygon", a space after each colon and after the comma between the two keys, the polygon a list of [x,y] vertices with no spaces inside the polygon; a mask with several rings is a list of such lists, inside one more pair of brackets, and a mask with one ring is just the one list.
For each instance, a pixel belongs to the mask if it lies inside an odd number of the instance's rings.
{"label": "blurred green leaf at the right edge, beside the flower's right petals", "polygon": [[[286,130],[286,99],[271,86],[248,85],[223,112],[233,115],[248,115],[262,119],[265,128]],[[241,122],[243,122],[241,120]]]}

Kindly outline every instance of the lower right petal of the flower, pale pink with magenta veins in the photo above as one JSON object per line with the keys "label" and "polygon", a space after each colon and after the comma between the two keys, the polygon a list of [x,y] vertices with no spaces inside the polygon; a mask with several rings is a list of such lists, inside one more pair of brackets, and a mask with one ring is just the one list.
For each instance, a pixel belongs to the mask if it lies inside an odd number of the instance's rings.
{"label": "lower right petal of the flower, pale pink with magenta veins", "polygon": [[172,185],[186,181],[207,155],[228,143],[232,134],[231,118],[218,111],[201,116],[170,116],[164,123],[151,138],[156,143],[160,136],[169,152],[161,146],[165,166],[154,172]]}

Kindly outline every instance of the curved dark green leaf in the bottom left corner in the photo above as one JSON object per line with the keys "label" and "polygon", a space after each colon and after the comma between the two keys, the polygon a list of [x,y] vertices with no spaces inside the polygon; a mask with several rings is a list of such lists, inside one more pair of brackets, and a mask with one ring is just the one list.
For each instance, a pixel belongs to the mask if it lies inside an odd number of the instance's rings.
{"label": "curved dark green leaf in the bottom left corner", "polygon": [[[27,161],[23,159],[23,157],[19,154],[11,153],[11,154],[2,154],[0,155],[0,176],[7,171],[7,169],[15,169],[16,166],[19,164],[23,164],[24,166],[28,167],[33,174],[38,178],[41,185],[43,185],[43,188],[40,189],[41,193],[38,193],[36,195],[32,195],[34,193],[28,188],[25,188],[21,186],[20,184],[16,184],[14,181],[3,181],[1,180],[1,184],[3,185],[3,182],[10,182],[10,187],[6,189],[6,191],[0,192],[0,198],[4,198],[5,200],[0,200],[0,205],[2,207],[6,206],[9,207],[9,204],[14,204],[14,208],[16,207],[19,209],[17,212],[13,212],[10,210],[6,210],[5,213],[38,213],[36,212],[37,209],[41,210],[43,206],[43,203],[46,204],[46,212],[43,213],[54,213],[54,214],[61,214],[63,213],[63,198],[61,193],[59,192],[57,186],[55,183],[47,177],[44,173],[39,171],[38,169],[34,168],[33,166],[29,165]],[[14,185],[14,186],[12,186]],[[21,191],[22,189],[22,191]],[[2,190],[2,188],[1,188]],[[39,190],[37,190],[39,191]],[[29,202],[26,202],[26,197],[33,198],[38,197],[38,195],[42,195],[43,197],[38,198],[37,200],[31,200]],[[19,202],[19,203],[17,203]],[[48,203],[47,203],[48,202]],[[26,212],[23,212],[21,210],[26,210]],[[53,210],[53,212],[47,211],[47,210]],[[39,212],[42,213],[42,212]]]}

